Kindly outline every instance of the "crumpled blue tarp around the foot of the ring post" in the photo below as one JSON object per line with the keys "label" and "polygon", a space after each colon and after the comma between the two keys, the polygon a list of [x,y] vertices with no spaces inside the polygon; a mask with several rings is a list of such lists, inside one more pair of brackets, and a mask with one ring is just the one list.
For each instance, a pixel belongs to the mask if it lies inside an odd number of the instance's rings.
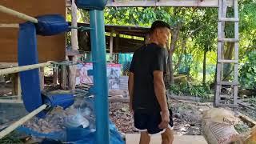
{"label": "crumpled blue tarp around the foot of the ring post", "polygon": [[[86,98],[83,104],[78,108],[82,112],[85,107],[92,108],[92,114],[94,115],[94,98]],[[110,120],[109,120],[110,122]],[[48,134],[40,133],[25,126],[20,126],[17,130],[37,138],[49,138],[61,142],[68,142],[72,144],[94,144],[96,131],[94,130],[95,119],[90,119],[90,126],[82,128],[78,127],[66,127],[62,131],[53,131]],[[124,144],[121,135],[119,134],[114,123],[110,122],[110,144]],[[92,129],[93,128],[93,129]]]}

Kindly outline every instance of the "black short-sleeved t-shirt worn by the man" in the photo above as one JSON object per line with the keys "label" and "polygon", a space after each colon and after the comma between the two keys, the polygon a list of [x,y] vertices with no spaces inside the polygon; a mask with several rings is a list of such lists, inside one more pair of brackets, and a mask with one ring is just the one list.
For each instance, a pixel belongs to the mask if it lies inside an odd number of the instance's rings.
{"label": "black short-sleeved t-shirt worn by the man", "polygon": [[154,43],[134,52],[130,72],[134,73],[133,108],[142,112],[161,111],[154,93],[154,70],[166,73],[167,51]]}

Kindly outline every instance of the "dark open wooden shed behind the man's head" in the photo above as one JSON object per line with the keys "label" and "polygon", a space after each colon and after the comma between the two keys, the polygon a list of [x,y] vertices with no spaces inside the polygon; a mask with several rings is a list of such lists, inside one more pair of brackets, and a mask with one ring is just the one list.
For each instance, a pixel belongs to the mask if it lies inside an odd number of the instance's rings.
{"label": "dark open wooden shed behind the man's head", "polygon": [[[78,26],[89,27],[90,25],[78,23]],[[106,25],[105,30],[106,52],[111,53],[112,49],[113,53],[133,53],[146,42],[150,27]],[[90,51],[89,31],[78,31],[78,42],[81,50]]]}

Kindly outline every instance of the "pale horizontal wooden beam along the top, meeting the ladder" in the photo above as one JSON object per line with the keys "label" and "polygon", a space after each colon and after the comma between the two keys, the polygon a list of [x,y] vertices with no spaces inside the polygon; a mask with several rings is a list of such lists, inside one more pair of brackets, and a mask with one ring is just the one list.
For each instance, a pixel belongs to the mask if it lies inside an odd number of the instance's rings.
{"label": "pale horizontal wooden beam along the top, meeting the ladder", "polygon": [[[228,6],[233,6],[234,3],[232,0],[227,0]],[[147,7],[147,6],[184,6],[184,7],[218,7],[218,0],[161,0],[157,1],[149,1],[149,0],[138,0],[138,1],[124,1],[124,0],[115,0],[108,1],[106,6],[108,7],[124,7],[124,6],[139,6],[139,7]]]}

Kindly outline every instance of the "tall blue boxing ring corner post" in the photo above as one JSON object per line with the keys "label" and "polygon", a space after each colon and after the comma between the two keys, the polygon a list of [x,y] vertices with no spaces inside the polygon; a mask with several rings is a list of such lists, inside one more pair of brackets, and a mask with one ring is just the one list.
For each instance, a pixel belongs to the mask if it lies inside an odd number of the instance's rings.
{"label": "tall blue boxing ring corner post", "polygon": [[108,83],[106,76],[106,40],[102,10],[90,10],[90,39],[94,62],[96,143],[110,143]]}

